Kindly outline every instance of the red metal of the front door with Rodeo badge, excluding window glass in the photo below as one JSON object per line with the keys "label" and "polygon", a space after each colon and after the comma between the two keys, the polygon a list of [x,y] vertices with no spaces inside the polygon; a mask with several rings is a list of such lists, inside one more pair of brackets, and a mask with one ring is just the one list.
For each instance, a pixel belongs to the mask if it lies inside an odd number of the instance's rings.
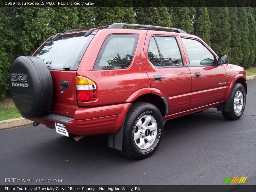
{"label": "red metal of the front door with Rodeo badge, excluding window glass", "polygon": [[[215,52],[199,37],[191,35],[183,35],[196,40],[199,40],[213,55],[217,58]],[[184,44],[180,37],[180,43],[184,51],[186,60],[188,61],[188,68],[191,73],[192,87],[191,100],[189,109],[198,108],[211,103],[223,101],[227,91],[227,73],[223,65],[220,66],[190,66],[189,58]],[[201,77],[195,77],[195,73],[200,73]],[[220,84],[224,83],[224,84]]]}

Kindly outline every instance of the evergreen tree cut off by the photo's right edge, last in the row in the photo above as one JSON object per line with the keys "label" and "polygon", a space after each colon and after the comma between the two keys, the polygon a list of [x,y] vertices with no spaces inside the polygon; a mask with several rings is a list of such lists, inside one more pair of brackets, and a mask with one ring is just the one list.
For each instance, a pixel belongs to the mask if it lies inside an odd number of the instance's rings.
{"label": "evergreen tree cut off by the photo's right edge, last in the row", "polygon": [[248,25],[249,25],[249,44],[250,44],[250,55],[248,58],[248,68],[255,64],[255,51],[256,51],[256,22],[253,17],[253,12],[251,7],[246,8]]}

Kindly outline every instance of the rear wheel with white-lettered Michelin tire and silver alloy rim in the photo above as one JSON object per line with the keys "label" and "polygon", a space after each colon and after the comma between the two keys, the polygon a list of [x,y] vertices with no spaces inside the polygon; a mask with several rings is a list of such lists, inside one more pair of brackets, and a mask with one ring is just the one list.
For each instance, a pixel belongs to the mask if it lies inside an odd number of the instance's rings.
{"label": "rear wheel with white-lettered Michelin tire and silver alloy rim", "polygon": [[133,103],[124,122],[122,153],[136,160],[151,156],[159,147],[163,126],[162,115],[155,105]]}

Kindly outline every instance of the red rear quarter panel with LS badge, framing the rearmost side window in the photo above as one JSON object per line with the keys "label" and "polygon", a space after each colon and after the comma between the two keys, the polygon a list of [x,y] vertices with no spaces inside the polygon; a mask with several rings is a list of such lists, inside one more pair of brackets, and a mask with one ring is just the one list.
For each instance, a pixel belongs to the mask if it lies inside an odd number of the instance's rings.
{"label": "red rear quarter panel with LS badge, framing the rearmost side window", "polygon": [[[137,47],[130,67],[124,69],[92,70],[100,52],[101,45],[108,35],[136,34],[139,36]],[[93,106],[129,102],[128,98],[141,89],[150,89],[148,75],[143,63],[143,46],[147,31],[144,30],[100,30],[87,48],[77,70],[78,76],[85,76],[95,82],[97,86],[97,100]],[[142,62],[141,65],[136,63]],[[86,103],[86,102],[84,102]],[[83,103],[79,102],[79,105]]]}

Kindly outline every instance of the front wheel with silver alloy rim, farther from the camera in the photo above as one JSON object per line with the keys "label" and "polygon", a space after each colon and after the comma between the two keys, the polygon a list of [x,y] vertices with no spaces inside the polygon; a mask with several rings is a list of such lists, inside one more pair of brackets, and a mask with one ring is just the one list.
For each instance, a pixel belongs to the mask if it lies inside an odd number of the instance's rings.
{"label": "front wheel with silver alloy rim, farther from the camera", "polygon": [[229,112],[222,111],[222,115],[228,120],[239,119],[244,113],[246,103],[244,86],[240,83],[235,83],[229,97]]}

